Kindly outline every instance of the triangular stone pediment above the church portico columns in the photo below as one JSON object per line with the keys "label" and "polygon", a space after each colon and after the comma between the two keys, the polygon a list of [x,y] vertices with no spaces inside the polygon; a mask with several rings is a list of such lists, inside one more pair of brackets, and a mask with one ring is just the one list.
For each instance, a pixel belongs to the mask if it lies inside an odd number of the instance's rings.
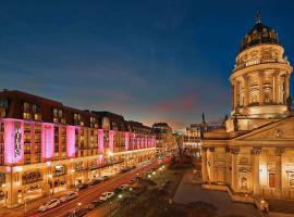
{"label": "triangular stone pediment above the church portico columns", "polygon": [[236,140],[294,140],[294,117],[255,129]]}

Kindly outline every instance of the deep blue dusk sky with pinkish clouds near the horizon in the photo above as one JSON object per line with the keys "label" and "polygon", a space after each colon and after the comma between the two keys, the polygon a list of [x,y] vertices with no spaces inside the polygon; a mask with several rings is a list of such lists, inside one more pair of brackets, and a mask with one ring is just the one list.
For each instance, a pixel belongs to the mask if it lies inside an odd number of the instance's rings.
{"label": "deep blue dusk sky with pinkish clouds near the horizon", "polygon": [[8,2],[1,88],[147,125],[179,129],[203,112],[208,120],[230,113],[230,72],[258,10],[294,65],[294,1]]}

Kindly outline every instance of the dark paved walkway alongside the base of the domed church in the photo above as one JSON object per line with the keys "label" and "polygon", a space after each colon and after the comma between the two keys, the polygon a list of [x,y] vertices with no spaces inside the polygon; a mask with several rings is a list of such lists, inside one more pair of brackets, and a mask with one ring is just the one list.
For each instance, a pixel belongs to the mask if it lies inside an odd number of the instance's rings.
{"label": "dark paved walkway alongside the base of the domed church", "polygon": [[188,170],[175,192],[174,202],[188,204],[201,201],[212,204],[219,215],[240,216],[242,214],[244,217],[260,217],[260,214],[252,204],[234,203],[226,192],[205,190],[200,182],[200,178],[193,175],[193,170]]}

